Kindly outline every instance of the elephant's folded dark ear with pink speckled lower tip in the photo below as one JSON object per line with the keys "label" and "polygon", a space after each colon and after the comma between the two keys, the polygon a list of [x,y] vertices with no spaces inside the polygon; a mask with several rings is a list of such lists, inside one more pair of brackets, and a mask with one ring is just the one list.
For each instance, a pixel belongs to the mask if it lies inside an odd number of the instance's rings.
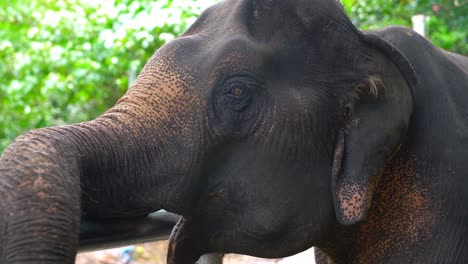
{"label": "elephant's folded dark ear with pink speckled lower tip", "polygon": [[352,225],[366,217],[374,187],[406,135],[412,100],[404,81],[384,83],[374,75],[353,88],[343,109],[332,194],[338,222]]}

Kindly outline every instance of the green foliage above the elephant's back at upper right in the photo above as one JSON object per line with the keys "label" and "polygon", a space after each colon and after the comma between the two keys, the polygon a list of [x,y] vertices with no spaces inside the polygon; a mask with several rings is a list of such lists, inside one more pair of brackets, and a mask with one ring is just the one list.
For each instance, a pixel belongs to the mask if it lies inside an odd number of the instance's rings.
{"label": "green foliage above the elephant's back at upper right", "polygon": [[466,0],[342,0],[361,29],[389,25],[411,27],[411,17],[427,17],[427,36],[437,46],[468,55],[468,2]]}

